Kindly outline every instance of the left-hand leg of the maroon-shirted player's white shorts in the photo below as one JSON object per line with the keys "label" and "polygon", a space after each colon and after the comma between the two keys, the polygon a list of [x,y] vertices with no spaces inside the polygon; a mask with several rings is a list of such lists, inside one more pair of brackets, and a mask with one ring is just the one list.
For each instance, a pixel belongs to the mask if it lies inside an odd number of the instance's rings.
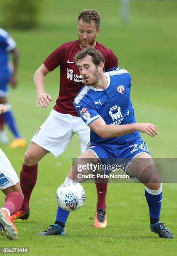
{"label": "left-hand leg of the maroon-shirted player's white shorts", "polygon": [[65,151],[72,136],[70,115],[52,110],[50,116],[37,130],[31,142],[36,143],[57,157]]}

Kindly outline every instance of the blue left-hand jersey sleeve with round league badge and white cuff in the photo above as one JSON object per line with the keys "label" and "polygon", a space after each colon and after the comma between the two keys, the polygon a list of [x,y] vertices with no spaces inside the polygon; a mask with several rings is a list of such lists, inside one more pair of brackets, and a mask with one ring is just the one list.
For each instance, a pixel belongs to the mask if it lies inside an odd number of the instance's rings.
{"label": "blue left-hand jersey sleeve with round league badge and white cuff", "polygon": [[82,120],[87,126],[89,126],[93,121],[100,118],[100,115],[97,113],[95,109],[83,103],[82,101],[80,101],[78,105],[75,104],[75,101],[74,101],[74,107],[75,107],[75,110],[77,111],[77,114],[82,118]]}

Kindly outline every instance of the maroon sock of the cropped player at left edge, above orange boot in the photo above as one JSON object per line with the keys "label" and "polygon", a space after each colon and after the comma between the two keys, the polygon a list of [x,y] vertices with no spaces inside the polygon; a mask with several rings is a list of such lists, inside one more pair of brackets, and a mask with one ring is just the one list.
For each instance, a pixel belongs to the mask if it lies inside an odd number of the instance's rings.
{"label": "maroon sock of the cropped player at left edge, above orange boot", "polygon": [[23,196],[20,191],[12,191],[5,197],[5,203],[2,206],[10,211],[10,215],[21,209]]}

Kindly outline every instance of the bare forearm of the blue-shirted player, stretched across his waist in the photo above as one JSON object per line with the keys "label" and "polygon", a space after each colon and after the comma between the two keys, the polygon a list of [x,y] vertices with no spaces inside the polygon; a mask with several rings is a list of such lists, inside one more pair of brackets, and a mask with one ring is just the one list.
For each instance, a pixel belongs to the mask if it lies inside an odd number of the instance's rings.
{"label": "bare forearm of the blue-shirted player, stretched across his waist", "polygon": [[123,136],[128,133],[132,133],[137,130],[136,123],[130,123],[127,125],[105,125],[101,132],[102,138],[115,138],[118,136]]}

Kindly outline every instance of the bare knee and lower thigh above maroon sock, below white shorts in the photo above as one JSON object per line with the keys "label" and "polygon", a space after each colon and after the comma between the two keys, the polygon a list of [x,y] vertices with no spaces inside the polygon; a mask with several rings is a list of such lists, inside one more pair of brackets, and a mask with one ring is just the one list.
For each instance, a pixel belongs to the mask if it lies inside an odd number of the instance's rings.
{"label": "bare knee and lower thigh above maroon sock, below white shorts", "polygon": [[24,156],[24,163],[27,165],[37,164],[49,151],[34,142],[30,142]]}

